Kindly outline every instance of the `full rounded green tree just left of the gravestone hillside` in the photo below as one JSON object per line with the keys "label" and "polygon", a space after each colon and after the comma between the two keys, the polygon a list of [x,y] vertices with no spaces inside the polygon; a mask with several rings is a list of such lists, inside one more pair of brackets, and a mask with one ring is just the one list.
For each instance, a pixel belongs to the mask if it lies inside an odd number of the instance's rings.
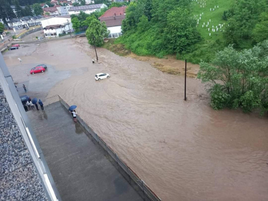
{"label": "full rounded green tree just left of the gravestone hillside", "polygon": [[167,26],[164,30],[167,44],[172,52],[181,52],[186,46],[200,40],[196,19],[189,10],[180,7],[167,15]]}

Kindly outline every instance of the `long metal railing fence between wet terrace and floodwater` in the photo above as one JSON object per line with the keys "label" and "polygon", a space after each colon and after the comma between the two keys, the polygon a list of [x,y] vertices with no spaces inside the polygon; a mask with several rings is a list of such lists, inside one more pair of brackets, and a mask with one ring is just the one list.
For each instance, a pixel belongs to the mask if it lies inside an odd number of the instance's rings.
{"label": "long metal railing fence between wet terrace and floodwater", "polygon": [[[44,106],[48,106],[52,103],[56,103],[60,101],[60,103],[68,110],[69,105],[59,96],[53,96],[50,98],[44,99]],[[107,151],[108,155],[117,163],[117,165],[126,173],[129,177],[130,181],[134,181],[136,186],[141,190],[141,192],[146,196],[147,199],[152,201],[161,201],[161,199],[144,183],[144,181],[112,150],[110,146],[108,146],[103,139],[98,136],[96,132],[79,116],[76,116],[76,119],[79,123],[84,127],[84,129],[99,143],[100,146],[103,147],[105,151]],[[146,199],[144,197],[144,199]],[[146,199],[146,200],[147,200]]]}

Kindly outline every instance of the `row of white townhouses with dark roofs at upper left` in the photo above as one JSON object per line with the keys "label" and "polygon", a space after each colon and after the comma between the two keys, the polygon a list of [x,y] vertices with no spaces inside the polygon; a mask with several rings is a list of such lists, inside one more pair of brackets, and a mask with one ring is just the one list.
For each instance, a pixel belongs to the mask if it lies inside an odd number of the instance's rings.
{"label": "row of white townhouses with dark roofs at upper left", "polygon": [[44,19],[45,17],[42,15],[25,16],[25,17],[10,19],[9,21],[7,21],[7,25],[11,28],[22,29],[26,27],[41,25],[41,21]]}

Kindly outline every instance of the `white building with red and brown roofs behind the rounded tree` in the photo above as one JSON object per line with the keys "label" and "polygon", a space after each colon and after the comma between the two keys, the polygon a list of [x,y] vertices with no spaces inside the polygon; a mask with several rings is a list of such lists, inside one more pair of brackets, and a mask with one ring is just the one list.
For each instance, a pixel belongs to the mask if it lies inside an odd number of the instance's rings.
{"label": "white building with red and brown roofs behind the rounded tree", "polygon": [[107,29],[110,31],[109,38],[118,38],[122,36],[122,21],[125,19],[126,6],[112,7],[107,10],[101,17],[100,22],[105,22]]}

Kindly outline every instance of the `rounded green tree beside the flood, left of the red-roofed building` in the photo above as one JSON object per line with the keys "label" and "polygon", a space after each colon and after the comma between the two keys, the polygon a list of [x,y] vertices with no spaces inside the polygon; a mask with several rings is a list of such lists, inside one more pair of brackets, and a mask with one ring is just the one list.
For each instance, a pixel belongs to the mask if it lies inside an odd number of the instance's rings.
{"label": "rounded green tree beside the flood, left of the red-roofed building", "polygon": [[100,22],[96,19],[96,17],[89,17],[91,19],[87,19],[90,21],[88,29],[86,30],[86,36],[90,45],[101,46],[103,45],[103,39],[107,38],[109,35],[109,31],[104,22]]}

